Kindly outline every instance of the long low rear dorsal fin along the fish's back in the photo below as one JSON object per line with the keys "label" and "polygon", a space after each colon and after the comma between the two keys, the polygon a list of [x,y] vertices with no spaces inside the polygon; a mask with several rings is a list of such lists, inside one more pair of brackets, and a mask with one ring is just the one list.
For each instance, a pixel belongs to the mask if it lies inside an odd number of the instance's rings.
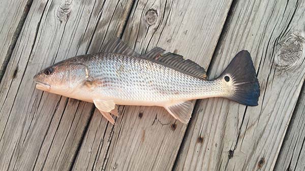
{"label": "long low rear dorsal fin along the fish's back", "polygon": [[191,61],[190,59],[184,59],[181,55],[166,52],[162,48],[156,47],[153,50],[143,54],[141,57],[158,61],[160,64],[190,76],[203,80],[207,79],[207,75],[203,67]]}

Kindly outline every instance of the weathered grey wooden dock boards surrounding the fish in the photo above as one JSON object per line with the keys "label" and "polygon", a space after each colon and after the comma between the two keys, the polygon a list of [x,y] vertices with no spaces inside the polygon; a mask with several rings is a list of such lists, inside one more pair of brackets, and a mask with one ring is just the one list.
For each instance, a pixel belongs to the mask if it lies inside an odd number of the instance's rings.
{"label": "weathered grey wooden dock boards surrounding the fish", "polygon": [[[0,170],[305,170],[304,11],[299,0],[2,0]],[[246,49],[259,106],[197,100],[188,125],[120,106],[113,126],[93,104],[35,89],[38,71],[112,37],[181,54],[209,78]]]}

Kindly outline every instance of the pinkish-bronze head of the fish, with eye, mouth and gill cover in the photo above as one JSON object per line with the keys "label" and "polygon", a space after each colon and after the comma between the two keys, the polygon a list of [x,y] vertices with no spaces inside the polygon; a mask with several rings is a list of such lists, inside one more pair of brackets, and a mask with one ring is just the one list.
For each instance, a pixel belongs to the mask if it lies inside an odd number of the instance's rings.
{"label": "pinkish-bronze head of the fish, with eye, mouth and gill cover", "polygon": [[37,89],[68,95],[87,78],[85,65],[68,60],[46,67],[34,76],[34,81]]}

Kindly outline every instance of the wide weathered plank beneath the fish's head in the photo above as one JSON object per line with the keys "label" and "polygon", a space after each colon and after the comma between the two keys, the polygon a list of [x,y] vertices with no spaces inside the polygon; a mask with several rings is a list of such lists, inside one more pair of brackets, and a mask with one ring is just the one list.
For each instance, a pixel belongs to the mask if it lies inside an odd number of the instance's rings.
{"label": "wide weathered plank beneath the fish's head", "polygon": [[[2,170],[70,170],[93,105],[36,90],[33,76],[119,35],[131,3],[33,2],[0,84]],[[92,44],[93,35],[103,40]]]}

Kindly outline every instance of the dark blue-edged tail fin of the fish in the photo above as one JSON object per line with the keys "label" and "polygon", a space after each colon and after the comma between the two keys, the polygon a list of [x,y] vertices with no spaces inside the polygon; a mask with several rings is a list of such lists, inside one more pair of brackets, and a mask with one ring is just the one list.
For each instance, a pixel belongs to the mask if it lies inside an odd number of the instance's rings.
{"label": "dark blue-edged tail fin of the fish", "polygon": [[227,98],[237,101],[242,105],[257,106],[260,95],[260,87],[250,53],[242,50],[236,54],[229,66],[220,76],[229,82],[232,92]]}

